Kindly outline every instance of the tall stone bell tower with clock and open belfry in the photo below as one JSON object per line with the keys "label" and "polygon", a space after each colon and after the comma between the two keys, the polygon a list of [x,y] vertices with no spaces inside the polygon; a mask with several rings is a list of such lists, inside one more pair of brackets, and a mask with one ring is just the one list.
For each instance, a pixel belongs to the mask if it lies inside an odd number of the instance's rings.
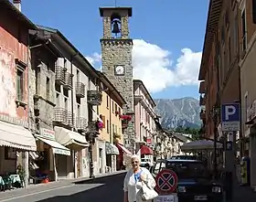
{"label": "tall stone bell tower with clock and open belfry", "polygon": [[133,39],[129,37],[129,17],[132,7],[101,7],[103,37],[101,38],[102,72],[122,94],[126,105],[123,114],[132,120],[123,129],[124,146],[135,147],[133,114]]}

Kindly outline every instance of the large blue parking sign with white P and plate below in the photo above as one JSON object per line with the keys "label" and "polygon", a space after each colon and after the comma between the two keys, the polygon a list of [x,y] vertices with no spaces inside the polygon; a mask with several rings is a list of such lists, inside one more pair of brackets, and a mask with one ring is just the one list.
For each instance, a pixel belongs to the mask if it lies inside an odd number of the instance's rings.
{"label": "large blue parking sign with white P and plate below", "polygon": [[221,106],[222,131],[233,132],[240,130],[240,104],[230,103]]}

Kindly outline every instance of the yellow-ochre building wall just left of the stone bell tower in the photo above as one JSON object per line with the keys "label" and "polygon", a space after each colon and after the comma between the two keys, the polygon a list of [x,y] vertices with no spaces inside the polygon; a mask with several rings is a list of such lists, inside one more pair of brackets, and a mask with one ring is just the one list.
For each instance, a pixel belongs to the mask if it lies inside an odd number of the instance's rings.
{"label": "yellow-ochre building wall just left of the stone bell tower", "polygon": [[[104,127],[100,131],[100,138],[112,144],[115,141],[123,144],[122,119],[117,112],[123,114],[122,106],[114,101],[114,98],[106,91],[103,91],[99,113],[102,116]],[[114,138],[115,134],[119,136],[118,139]]]}

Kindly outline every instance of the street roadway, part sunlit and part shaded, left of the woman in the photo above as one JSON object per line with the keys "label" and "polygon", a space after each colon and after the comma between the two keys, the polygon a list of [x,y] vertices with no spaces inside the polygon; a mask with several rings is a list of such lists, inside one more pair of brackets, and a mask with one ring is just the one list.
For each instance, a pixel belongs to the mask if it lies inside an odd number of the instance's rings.
{"label": "street roadway, part sunlit and part shaded, left of the woman", "polygon": [[[27,194],[15,195],[15,197],[3,197],[1,202],[120,202],[123,201],[124,174],[112,175],[95,179],[93,182],[85,181],[82,184],[63,184],[63,186],[34,191]],[[10,192],[11,193],[11,192]]]}

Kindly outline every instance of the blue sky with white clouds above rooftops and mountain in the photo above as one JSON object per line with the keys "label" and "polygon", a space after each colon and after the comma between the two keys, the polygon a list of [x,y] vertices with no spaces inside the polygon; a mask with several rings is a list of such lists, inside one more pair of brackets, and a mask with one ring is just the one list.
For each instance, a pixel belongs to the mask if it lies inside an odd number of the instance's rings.
{"label": "blue sky with white clouds above rooftops and mountain", "polygon": [[[58,28],[99,68],[99,7],[113,5],[114,0],[23,0],[22,12],[36,24]],[[154,98],[198,98],[208,1],[117,0],[117,5],[133,7],[134,77],[144,81]]]}

